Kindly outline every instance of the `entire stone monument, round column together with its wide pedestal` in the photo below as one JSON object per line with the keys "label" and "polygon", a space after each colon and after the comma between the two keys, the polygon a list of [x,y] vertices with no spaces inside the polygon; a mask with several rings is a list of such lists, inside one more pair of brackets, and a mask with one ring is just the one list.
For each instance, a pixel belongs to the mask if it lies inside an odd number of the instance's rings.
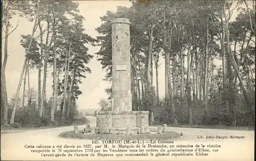
{"label": "entire stone monument, round column together with its wide pedestal", "polygon": [[148,111],[132,111],[130,21],[112,21],[112,111],[97,114],[96,134],[148,133]]}

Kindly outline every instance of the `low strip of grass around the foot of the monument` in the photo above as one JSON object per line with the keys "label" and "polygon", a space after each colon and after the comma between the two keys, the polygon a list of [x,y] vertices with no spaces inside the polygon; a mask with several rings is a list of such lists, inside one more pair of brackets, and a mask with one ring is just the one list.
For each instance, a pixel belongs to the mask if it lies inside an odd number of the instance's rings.
{"label": "low strip of grass around the foot of the monument", "polygon": [[150,140],[171,140],[179,138],[180,135],[174,131],[167,131],[161,134],[151,133],[151,134],[141,134],[141,135],[103,135],[103,134],[96,134],[96,135],[84,135],[82,131],[79,133],[74,133],[74,131],[66,131],[60,133],[59,137],[66,138],[66,139],[82,139],[82,140],[143,140],[143,139],[150,139]]}

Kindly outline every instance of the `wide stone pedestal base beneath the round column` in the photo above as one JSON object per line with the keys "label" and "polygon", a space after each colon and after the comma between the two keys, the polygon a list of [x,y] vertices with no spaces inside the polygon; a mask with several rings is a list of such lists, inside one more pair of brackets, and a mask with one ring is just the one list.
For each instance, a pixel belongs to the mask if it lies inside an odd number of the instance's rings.
{"label": "wide stone pedestal base beneath the round column", "polygon": [[102,111],[96,116],[95,134],[126,134],[131,127],[131,134],[150,133],[148,129],[148,111]]}

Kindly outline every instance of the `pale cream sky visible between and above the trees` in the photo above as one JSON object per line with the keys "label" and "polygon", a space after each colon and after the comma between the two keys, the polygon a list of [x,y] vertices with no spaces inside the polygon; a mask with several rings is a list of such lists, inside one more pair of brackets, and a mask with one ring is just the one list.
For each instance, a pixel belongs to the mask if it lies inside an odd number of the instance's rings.
{"label": "pale cream sky visible between and above the trees", "polygon": [[[99,34],[95,29],[100,26],[100,17],[105,15],[107,11],[115,12],[117,6],[130,7],[132,5],[129,1],[75,1],[79,3],[78,9],[80,14],[86,18],[84,21],[84,28],[86,33],[91,37],[96,38]],[[8,101],[16,93],[20,73],[22,71],[23,63],[25,60],[25,50],[20,45],[20,35],[27,35],[32,32],[32,27],[34,22],[29,22],[27,19],[13,16],[11,19],[11,24],[16,26],[18,22],[17,29],[9,36],[8,42],[8,61],[6,66],[6,84],[7,84],[7,95]],[[12,29],[10,29],[12,31]],[[38,35],[36,33],[35,35]],[[4,40],[4,39],[3,39]],[[4,43],[2,43],[4,47]],[[87,78],[82,79],[82,84],[79,85],[82,94],[78,98],[78,109],[98,109],[98,102],[101,98],[106,99],[108,95],[105,93],[104,89],[110,87],[109,82],[103,81],[105,71],[102,70],[101,64],[96,60],[95,53],[99,51],[100,47],[94,47],[87,45],[89,48],[90,55],[94,58],[88,64],[91,68],[92,73],[86,74]],[[4,48],[2,48],[2,53],[4,55]],[[2,55],[2,60],[3,60]],[[186,60],[185,60],[186,62]],[[50,70],[47,78],[47,97],[52,95],[52,78],[50,77]],[[154,73],[155,74],[155,73]],[[153,74],[153,85],[156,84],[156,76]],[[37,90],[38,85],[38,71],[30,70],[30,86]],[[22,96],[23,88],[20,89],[19,95]],[[160,98],[164,96],[164,60],[160,58],[160,68],[159,68],[159,96]]]}

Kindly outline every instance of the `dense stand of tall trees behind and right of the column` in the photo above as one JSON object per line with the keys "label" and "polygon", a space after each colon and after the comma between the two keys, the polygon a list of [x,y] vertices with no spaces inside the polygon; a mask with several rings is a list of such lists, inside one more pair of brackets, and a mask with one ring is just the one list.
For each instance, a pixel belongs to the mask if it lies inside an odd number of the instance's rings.
{"label": "dense stand of tall trees behind and right of the column", "polygon": [[[105,81],[111,81],[111,20],[129,18],[133,110],[149,111],[150,124],[254,126],[255,2],[131,3],[101,17],[96,54]],[[161,57],[164,98],[159,98]],[[111,98],[111,88],[105,91]],[[108,102],[99,104],[110,110]]]}

